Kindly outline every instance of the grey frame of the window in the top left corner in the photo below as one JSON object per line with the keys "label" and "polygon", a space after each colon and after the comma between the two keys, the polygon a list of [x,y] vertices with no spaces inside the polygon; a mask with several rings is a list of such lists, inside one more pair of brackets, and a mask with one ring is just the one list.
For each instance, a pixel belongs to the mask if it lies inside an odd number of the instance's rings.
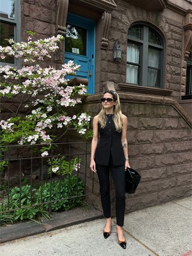
{"label": "grey frame of the window in the top left corner", "polygon": [[[20,26],[21,26],[21,18],[20,18],[20,0],[14,0],[15,1],[15,5],[14,5],[14,19],[7,19],[4,17],[0,17],[0,22],[5,22],[5,23],[9,23],[9,24],[13,24],[14,25],[14,41],[16,41],[17,43],[20,41]],[[8,62],[1,62],[0,61],[0,65],[1,66],[5,66],[5,65],[9,65],[12,67],[19,67],[21,65],[21,60],[18,58],[14,58],[14,64],[8,63]]]}

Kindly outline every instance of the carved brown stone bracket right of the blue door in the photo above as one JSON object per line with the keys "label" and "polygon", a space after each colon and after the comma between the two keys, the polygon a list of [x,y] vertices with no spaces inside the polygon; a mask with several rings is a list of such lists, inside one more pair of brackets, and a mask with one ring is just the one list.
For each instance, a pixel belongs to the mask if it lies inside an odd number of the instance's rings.
{"label": "carved brown stone bracket right of the blue door", "polygon": [[110,23],[112,20],[112,14],[107,11],[104,11],[101,19],[103,19],[103,26],[101,30],[101,49],[106,50],[108,46],[108,35],[109,35]]}

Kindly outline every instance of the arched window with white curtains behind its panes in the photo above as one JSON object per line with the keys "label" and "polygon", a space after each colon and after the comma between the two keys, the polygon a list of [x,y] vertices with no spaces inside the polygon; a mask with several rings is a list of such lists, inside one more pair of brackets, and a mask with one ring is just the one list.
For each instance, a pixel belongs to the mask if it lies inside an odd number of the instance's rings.
{"label": "arched window with white curtains behind its panes", "polygon": [[163,88],[164,43],[158,32],[136,24],[128,29],[128,84]]}

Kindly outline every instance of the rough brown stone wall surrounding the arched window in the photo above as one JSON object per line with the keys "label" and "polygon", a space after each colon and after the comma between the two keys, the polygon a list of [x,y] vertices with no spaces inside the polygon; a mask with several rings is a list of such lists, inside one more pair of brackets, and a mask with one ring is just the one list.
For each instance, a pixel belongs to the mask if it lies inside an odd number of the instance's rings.
{"label": "rough brown stone wall surrounding the arched window", "polygon": [[[100,82],[114,81],[118,90],[118,84],[126,81],[126,55],[128,28],[134,22],[145,22],[155,26],[164,37],[165,46],[165,77],[164,88],[173,90],[172,97],[177,101],[181,93],[185,92],[185,63],[182,64],[183,27],[182,16],[178,14],[178,21],[171,19],[167,13],[152,12],[136,7],[125,1],[117,2],[116,10],[112,11],[112,23],[109,33],[109,46],[107,50],[101,50]],[[122,48],[122,59],[113,61],[113,44],[118,40]],[[182,78],[181,78],[182,72]]]}

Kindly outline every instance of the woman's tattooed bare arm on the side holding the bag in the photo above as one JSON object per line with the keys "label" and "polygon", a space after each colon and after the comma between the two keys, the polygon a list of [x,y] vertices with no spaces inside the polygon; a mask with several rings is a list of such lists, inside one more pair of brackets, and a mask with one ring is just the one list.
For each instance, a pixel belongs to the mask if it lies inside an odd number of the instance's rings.
{"label": "woman's tattooed bare arm on the side holding the bag", "polygon": [[125,169],[130,168],[130,163],[128,162],[128,145],[127,145],[127,117],[122,116],[122,135],[121,135],[122,147],[124,149],[125,156]]}

